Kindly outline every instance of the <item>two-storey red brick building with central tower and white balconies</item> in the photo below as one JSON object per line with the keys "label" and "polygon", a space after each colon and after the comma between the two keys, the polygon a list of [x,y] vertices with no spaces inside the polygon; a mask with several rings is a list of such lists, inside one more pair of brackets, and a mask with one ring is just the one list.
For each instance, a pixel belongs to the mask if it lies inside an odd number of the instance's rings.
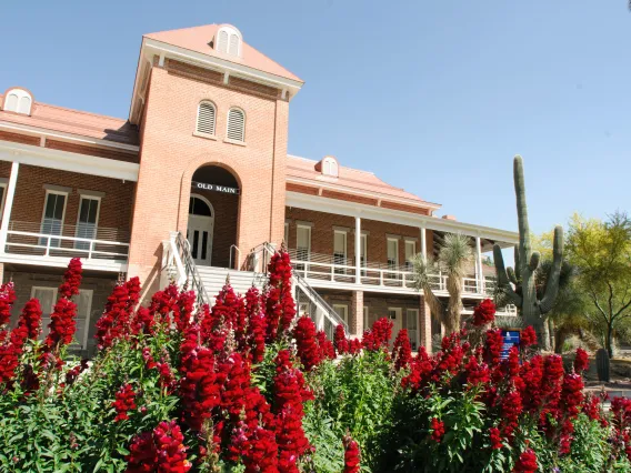
{"label": "two-storey red brick building with central tower and white balconies", "polygon": [[[77,346],[121,275],[144,294],[169,278],[210,301],[228,273],[237,289],[261,283],[282,241],[296,263],[300,310],[331,330],[361,334],[377,316],[433,332],[413,289],[410,260],[432,254],[447,232],[471,235],[477,259],[465,308],[492,283],[482,253],[513,232],[437,218],[439,204],[374,174],[288,155],[288,117],[303,82],[229,24],[142,38],[129,117],[120,120],[0,95],[0,269],[20,308],[38,296],[50,312],[63,268],[83,260]],[[241,286],[239,286],[241,284]],[[445,296],[444,281],[435,291]]]}

